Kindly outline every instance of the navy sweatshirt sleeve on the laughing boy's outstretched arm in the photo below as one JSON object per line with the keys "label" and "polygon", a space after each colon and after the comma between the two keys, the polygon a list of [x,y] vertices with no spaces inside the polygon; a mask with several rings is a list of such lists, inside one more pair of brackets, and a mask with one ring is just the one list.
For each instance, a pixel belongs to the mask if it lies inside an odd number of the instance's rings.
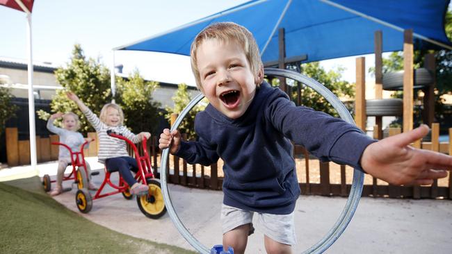
{"label": "navy sweatshirt sleeve on the laughing boy's outstretched arm", "polygon": [[305,146],[321,161],[348,164],[362,171],[361,155],[369,144],[376,142],[342,119],[297,107],[284,97],[272,101],[265,114],[284,137]]}

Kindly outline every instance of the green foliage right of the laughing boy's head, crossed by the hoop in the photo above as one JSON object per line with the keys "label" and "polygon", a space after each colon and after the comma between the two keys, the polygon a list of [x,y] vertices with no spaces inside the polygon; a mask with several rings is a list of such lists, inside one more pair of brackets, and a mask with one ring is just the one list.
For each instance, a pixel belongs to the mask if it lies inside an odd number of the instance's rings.
{"label": "green foliage right of the laughing boy's head, crossed by the hoop", "polygon": [[[319,65],[318,62],[309,62],[302,64],[300,66],[300,72],[309,76],[310,78],[314,78],[319,83],[325,85],[331,92],[336,94],[342,100],[351,100],[355,96],[355,87],[353,84],[348,83],[347,81],[341,80],[341,72],[343,69],[339,68],[336,71],[330,70],[325,71],[323,67]],[[311,88],[301,85],[301,105],[305,105],[309,108],[314,108],[314,110],[325,112],[334,117],[338,117],[336,110],[332,107],[326,99],[318,94]],[[293,92],[293,101],[298,101],[298,94],[296,92],[296,87],[294,87]],[[296,103],[298,104],[298,103]],[[349,107],[350,108],[350,107]]]}

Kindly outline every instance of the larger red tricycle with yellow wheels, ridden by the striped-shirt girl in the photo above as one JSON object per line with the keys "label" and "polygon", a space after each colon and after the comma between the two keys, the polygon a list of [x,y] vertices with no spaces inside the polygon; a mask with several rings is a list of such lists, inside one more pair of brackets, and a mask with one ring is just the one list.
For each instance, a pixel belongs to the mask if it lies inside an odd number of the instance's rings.
{"label": "larger red tricycle with yellow wheels, ridden by the striped-shirt girl", "polygon": [[[113,133],[113,131],[108,130],[107,134],[111,137],[116,137],[118,139],[122,139],[127,144],[131,146],[131,149],[134,151],[135,159],[138,164],[138,171],[135,175],[135,179],[138,183],[143,183],[149,187],[149,191],[145,195],[136,196],[136,201],[138,203],[138,208],[140,211],[145,214],[146,217],[151,219],[158,219],[163,216],[166,212],[165,202],[163,201],[163,194],[161,192],[161,186],[159,179],[154,177],[152,173],[150,156],[147,153],[146,139],[143,139],[143,155],[138,153],[138,149],[136,145],[131,142],[131,140],[127,139],[118,133]],[[96,194],[92,197],[88,189],[79,189],[75,195],[75,201],[77,208],[79,208],[80,212],[88,213],[92,208],[92,201],[97,198],[104,198],[106,196],[111,196],[114,194],[121,193],[122,196],[126,199],[133,198],[133,195],[129,192],[129,185],[127,185],[126,181],[119,176],[118,184],[114,184],[111,182],[111,173],[112,171],[108,170],[104,167],[105,170],[105,178],[102,185],[100,185]],[[119,173],[119,172],[118,172]],[[106,192],[102,194],[104,187],[106,184],[113,187],[113,191]]]}

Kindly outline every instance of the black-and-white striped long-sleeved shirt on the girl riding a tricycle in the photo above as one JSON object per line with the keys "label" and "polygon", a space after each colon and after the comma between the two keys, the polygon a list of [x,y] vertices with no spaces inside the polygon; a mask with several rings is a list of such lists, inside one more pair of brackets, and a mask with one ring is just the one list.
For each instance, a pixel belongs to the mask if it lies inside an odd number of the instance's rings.
{"label": "black-and-white striped long-sleeved shirt on the girl riding a tricycle", "polygon": [[88,119],[92,127],[95,128],[97,132],[97,138],[99,139],[99,153],[97,153],[97,157],[101,163],[104,163],[108,158],[129,156],[129,153],[127,153],[126,142],[122,139],[108,136],[106,134],[107,130],[119,133],[134,143],[141,141],[140,137],[134,133],[131,133],[126,126],[107,126],[100,121],[99,117],[97,117],[97,115],[95,115],[90,109],[83,111],[83,114],[85,114],[86,119]]}

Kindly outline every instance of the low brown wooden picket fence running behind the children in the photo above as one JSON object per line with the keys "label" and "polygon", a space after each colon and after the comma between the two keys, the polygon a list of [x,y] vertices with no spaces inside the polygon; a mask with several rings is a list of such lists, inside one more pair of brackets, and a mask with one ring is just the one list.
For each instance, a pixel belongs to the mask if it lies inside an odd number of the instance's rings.
{"label": "low brown wooden picket fence running behind the children", "polygon": [[[399,128],[389,129],[389,135],[400,133]],[[17,140],[17,130],[8,128],[6,130],[7,149],[13,149],[8,152],[8,164],[29,164],[29,141]],[[95,133],[89,133],[88,136],[96,137]],[[432,142],[417,142],[413,144],[421,149],[440,151],[446,154],[452,154],[450,142],[439,143],[439,125],[432,126]],[[449,129],[449,140],[452,139],[452,128]],[[37,138],[38,162],[56,160],[58,158],[58,147],[51,146],[51,142],[58,141],[58,136],[51,135],[48,138]],[[161,151],[157,144],[157,137],[152,137],[152,142],[148,142],[148,151],[150,151],[151,163],[154,172],[159,177],[157,169],[160,169]],[[89,149],[85,151],[87,156],[97,155],[97,142],[90,144]],[[140,147],[140,146],[138,146]],[[293,155],[296,160],[298,181],[302,194],[323,195],[323,196],[348,196],[353,178],[353,169],[348,166],[338,165],[334,162],[319,162],[316,158],[307,153],[302,146],[294,146]],[[11,162],[15,163],[12,164]],[[223,162],[220,160],[210,167],[204,167],[200,164],[187,164],[181,158],[170,155],[168,159],[168,183],[195,187],[201,189],[220,190],[223,184]],[[364,178],[364,187],[362,196],[380,196],[389,198],[438,198],[452,199],[452,178],[435,180],[431,186],[410,187],[388,185],[382,180],[372,178],[366,175]]]}

